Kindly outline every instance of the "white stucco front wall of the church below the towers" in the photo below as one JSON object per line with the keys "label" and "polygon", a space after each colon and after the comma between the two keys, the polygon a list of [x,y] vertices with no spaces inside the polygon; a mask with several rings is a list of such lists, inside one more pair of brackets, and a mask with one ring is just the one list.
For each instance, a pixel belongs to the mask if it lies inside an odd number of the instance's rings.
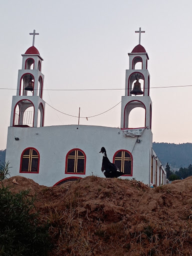
{"label": "white stucco front wall of the church below the towers", "polygon": [[[15,140],[18,137],[19,140]],[[132,153],[132,177],[149,184],[152,133],[145,129],[138,137],[124,137],[119,128],[89,125],[59,125],[45,127],[8,127],[6,161],[10,161],[11,176],[22,175],[35,182],[52,186],[65,177],[91,175],[104,177],[101,172],[101,146],[106,148],[112,162],[114,153],[125,149]],[[39,173],[19,173],[20,156],[27,147],[34,147],[40,154]],[[80,148],[86,155],[83,174],[65,174],[65,157],[72,148]],[[132,178],[122,176],[122,178]]]}

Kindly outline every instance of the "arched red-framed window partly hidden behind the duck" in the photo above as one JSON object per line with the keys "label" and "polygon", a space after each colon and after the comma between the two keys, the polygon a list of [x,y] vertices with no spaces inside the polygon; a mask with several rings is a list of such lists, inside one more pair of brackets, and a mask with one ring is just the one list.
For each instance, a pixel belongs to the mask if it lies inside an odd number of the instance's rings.
{"label": "arched red-framed window partly hidden behind the duck", "polygon": [[113,156],[114,164],[125,175],[132,176],[132,156],[127,150],[119,150]]}

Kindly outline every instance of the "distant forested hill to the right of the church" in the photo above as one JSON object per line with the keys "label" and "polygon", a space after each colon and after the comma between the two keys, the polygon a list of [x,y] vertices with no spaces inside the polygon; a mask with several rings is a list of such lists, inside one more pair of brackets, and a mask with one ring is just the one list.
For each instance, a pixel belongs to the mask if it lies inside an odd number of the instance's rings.
{"label": "distant forested hill to the right of the church", "polygon": [[163,166],[167,162],[172,168],[188,167],[192,164],[192,143],[153,142],[152,147]]}

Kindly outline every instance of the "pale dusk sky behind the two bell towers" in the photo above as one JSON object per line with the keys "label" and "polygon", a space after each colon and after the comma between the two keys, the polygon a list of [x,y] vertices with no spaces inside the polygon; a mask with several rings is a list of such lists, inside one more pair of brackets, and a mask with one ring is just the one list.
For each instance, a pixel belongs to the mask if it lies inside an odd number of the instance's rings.
{"label": "pale dusk sky behind the two bell towers", "polygon": [[[86,117],[120,102],[127,53],[138,44],[134,31],[141,27],[149,56],[153,141],[192,142],[192,86],[184,86],[192,84],[191,9],[190,0],[0,1],[0,149],[6,148],[21,54],[32,45],[33,29],[39,33],[34,46],[44,59],[43,100],[75,116],[80,107]],[[78,123],[49,105],[46,126]],[[131,122],[138,127],[143,113],[133,110]],[[119,127],[120,111],[118,104],[80,118],[79,124]]]}

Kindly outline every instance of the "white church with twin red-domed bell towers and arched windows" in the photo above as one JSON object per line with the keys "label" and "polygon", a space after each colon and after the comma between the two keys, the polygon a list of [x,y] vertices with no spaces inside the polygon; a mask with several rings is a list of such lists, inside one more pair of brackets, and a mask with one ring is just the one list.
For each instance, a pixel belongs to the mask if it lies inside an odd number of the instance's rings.
{"label": "white church with twin red-domed bell towers and arched windows", "polygon": [[[33,179],[40,185],[53,186],[101,172],[101,146],[109,160],[124,173],[120,178],[135,178],[145,184],[165,184],[166,171],[152,149],[150,76],[148,54],[140,44],[128,53],[125,90],[121,99],[120,128],[93,125],[44,126],[42,61],[32,46],[22,56],[18,70],[17,92],[12,97],[10,126],[5,161],[10,175]],[[135,69],[140,62],[141,69]],[[140,80],[140,82],[139,82]],[[144,109],[143,127],[129,127],[129,114],[135,107]]]}

